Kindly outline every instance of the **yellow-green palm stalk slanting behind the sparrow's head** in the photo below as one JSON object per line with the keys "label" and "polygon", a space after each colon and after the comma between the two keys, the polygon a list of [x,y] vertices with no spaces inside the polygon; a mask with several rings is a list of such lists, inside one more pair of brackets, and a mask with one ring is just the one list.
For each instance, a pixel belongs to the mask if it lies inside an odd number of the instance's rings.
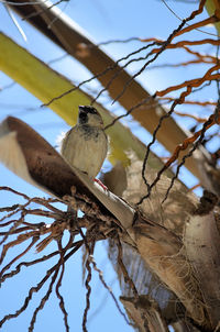
{"label": "yellow-green palm stalk slanting behind the sparrow's head", "polygon": [[[15,63],[14,56],[16,57]],[[25,66],[23,66],[23,64],[25,64]],[[1,33],[0,68],[43,102],[47,102],[63,91],[76,88],[68,79],[51,69],[26,49]],[[51,84],[52,81],[54,82],[53,85]],[[68,124],[74,125],[77,120],[78,106],[90,104],[90,102],[91,97],[77,90],[74,95],[68,93],[65,98],[56,100],[56,102],[52,103],[51,108]],[[96,104],[96,108],[100,111],[105,123],[111,123],[113,121],[114,117],[111,115],[107,109],[100,104]],[[129,159],[124,153],[128,150],[134,151],[140,158],[144,157],[144,144],[121,123],[118,122],[111,126],[107,131],[107,134],[111,137],[111,154],[109,155],[109,159],[112,164],[121,161],[123,165],[128,165]],[[150,165],[156,167],[158,164],[157,168],[160,168],[162,166],[160,158],[153,153],[151,157]]]}

